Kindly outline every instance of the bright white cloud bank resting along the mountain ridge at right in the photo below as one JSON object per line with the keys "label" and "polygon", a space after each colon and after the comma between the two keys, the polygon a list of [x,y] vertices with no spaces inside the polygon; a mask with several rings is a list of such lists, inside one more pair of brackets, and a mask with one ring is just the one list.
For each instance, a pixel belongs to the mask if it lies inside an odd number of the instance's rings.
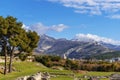
{"label": "bright white cloud bank resting along the mountain ridge at right", "polygon": [[76,34],[73,40],[86,41],[86,42],[97,41],[97,42],[110,43],[113,45],[120,45],[120,41],[113,40],[113,39],[106,38],[106,37],[100,37],[100,36],[93,35],[93,34]]}

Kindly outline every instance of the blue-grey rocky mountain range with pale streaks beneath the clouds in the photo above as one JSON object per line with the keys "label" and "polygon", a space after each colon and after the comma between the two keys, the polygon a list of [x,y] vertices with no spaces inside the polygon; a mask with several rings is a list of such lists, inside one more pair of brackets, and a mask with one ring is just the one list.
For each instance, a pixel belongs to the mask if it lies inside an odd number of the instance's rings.
{"label": "blue-grey rocky mountain range with pale streaks beneath the clouds", "polygon": [[38,54],[59,55],[67,58],[86,58],[96,54],[119,51],[120,46],[88,39],[67,40],[64,38],[55,39],[47,35],[41,35],[38,47],[35,52]]}

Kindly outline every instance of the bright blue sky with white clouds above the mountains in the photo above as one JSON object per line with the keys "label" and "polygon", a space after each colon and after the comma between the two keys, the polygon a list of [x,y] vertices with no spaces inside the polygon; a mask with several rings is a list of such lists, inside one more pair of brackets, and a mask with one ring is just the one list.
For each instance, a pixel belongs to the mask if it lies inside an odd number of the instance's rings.
{"label": "bright blue sky with white clouds above the mountains", "polygon": [[0,16],[55,38],[94,38],[120,44],[120,0],[1,0]]}

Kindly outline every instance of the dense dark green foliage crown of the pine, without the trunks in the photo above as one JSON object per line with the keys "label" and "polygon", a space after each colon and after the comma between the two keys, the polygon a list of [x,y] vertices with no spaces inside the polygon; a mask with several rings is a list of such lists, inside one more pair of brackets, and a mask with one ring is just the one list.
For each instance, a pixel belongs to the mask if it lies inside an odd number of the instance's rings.
{"label": "dense dark green foliage crown of the pine, without the trunks", "polygon": [[[22,28],[22,23],[13,16],[6,18],[0,16],[0,42],[7,43],[7,47],[16,47],[21,52],[32,52],[39,41],[39,36],[35,31],[26,31]],[[3,49],[3,47],[2,47]],[[4,50],[3,50],[4,51]]]}

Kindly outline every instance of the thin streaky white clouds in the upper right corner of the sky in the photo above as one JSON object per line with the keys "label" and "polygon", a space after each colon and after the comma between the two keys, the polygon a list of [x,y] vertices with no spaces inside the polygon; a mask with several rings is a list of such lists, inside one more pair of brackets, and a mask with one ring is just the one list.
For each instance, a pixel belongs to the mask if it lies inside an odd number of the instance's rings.
{"label": "thin streaky white clouds in the upper right corner of the sky", "polygon": [[89,15],[114,14],[120,11],[120,0],[48,0],[58,2],[75,12]]}

